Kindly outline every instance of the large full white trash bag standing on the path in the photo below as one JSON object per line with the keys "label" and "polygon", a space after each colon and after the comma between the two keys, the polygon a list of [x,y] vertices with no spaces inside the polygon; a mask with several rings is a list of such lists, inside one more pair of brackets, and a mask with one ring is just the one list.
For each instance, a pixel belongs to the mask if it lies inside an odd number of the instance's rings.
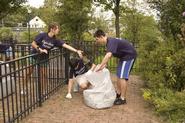
{"label": "large full white trash bag standing on the path", "polygon": [[112,107],[116,93],[109,70],[104,68],[99,72],[88,71],[85,75],[92,85],[83,91],[85,104],[95,109]]}

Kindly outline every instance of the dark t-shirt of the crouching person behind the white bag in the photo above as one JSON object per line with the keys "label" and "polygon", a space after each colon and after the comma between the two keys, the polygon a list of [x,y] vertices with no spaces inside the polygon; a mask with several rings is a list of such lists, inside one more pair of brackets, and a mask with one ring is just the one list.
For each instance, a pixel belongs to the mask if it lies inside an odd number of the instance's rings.
{"label": "dark t-shirt of the crouching person behind the white bag", "polygon": [[89,70],[88,65],[92,64],[91,61],[89,61],[87,64],[84,64],[83,60],[80,59],[78,61],[78,67],[77,68],[71,68],[70,69],[70,76],[69,78],[73,78],[73,76],[78,76],[78,75],[82,75],[84,73],[86,73]]}

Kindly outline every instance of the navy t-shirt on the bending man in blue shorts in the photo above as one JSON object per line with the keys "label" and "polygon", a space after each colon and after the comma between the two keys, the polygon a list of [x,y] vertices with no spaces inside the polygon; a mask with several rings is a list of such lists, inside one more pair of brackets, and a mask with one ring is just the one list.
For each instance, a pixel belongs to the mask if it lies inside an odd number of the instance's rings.
{"label": "navy t-shirt on the bending man in blue shorts", "polygon": [[137,56],[135,48],[124,39],[107,38],[106,47],[107,52],[124,61],[135,59]]}

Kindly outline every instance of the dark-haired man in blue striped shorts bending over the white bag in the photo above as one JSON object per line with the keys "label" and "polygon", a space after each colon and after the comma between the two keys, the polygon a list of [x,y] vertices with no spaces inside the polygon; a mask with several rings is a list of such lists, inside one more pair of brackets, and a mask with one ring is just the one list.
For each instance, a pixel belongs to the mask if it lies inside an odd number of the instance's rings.
{"label": "dark-haired man in blue striped shorts bending over the white bag", "polygon": [[137,56],[136,50],[127,40],[107,37],[102,30],[97,30],[94,33],[94,37],[96,38],[97,43],[106,44],[107,48],[107,53],[104,56],[97,71],[102,70],[112,56],[119,58],[119,63],[117,67],[117,97],[114,101],[114,104],[125,104],[127,81],[129,79],[129,73],[131,71],[133,63]]}

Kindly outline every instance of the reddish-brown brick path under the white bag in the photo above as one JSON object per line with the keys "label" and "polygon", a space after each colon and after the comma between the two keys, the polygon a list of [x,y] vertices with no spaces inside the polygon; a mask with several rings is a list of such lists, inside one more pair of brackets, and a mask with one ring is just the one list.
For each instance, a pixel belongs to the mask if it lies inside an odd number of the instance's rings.
{"label": "reddish-brown brick path under the white bag", "polygon": [[131,76],[127,104],[102,110],[87,107],[82,92],[73,93],[71,100],[65,99],[65,86],[22,123],[162,123],[143,100],[140,90],[142,85],[138,76]]}

